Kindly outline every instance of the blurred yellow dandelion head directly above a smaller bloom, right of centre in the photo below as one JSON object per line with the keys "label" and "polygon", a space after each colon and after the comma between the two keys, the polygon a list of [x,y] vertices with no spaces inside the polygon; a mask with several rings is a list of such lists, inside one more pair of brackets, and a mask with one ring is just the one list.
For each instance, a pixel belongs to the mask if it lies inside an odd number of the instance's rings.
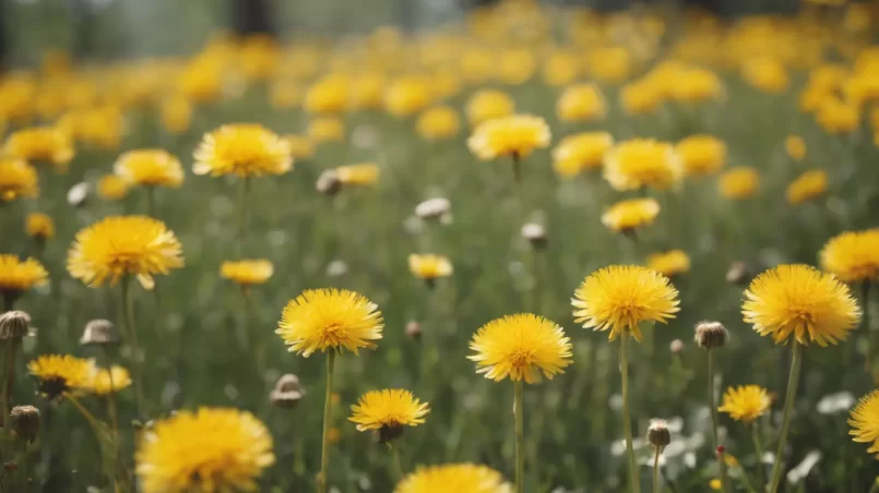
{"label": "blurred yellow dandelion head directly above a smaller bloom, right of centre", "polygon": [[633,139],[617,143],[605,154],[604,178],[616,190],[668,190],[682,177],[680,158],[667,142]]}

